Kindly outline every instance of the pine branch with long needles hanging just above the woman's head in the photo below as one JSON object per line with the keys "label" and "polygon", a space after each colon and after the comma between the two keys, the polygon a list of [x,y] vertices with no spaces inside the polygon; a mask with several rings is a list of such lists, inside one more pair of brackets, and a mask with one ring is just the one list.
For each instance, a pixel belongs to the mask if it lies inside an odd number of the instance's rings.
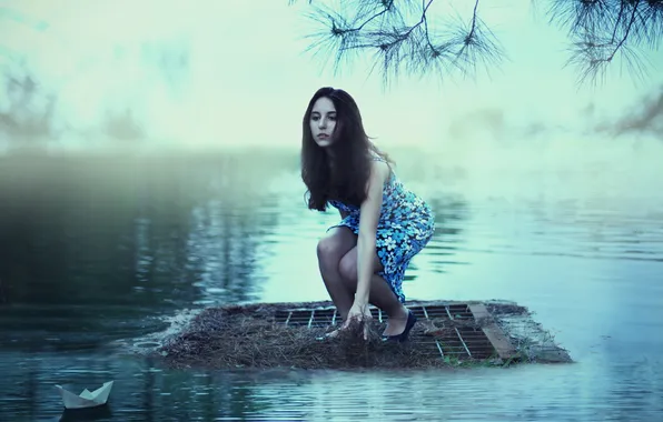
{"label": "pine branch with long needles hanging just above the woman's head", "polygon": [[[415,6],[415,1],[403,1],[397,7],[394,0],[348,1],[356,9],[352,18],[350,13],[316,6],[309,17],[325,29],[311,37],[315,41],[310,50],[334,57],[335,72],[350,54],[373,56],[369,72],[382,69],[385,83],[403,69],[412,74],[434,72],[442,77],[454,69],[467,76],[477,63],[489,68],[502,60],[499,43],[481,20],[479,0],[475,0],[468,22],[456,23],[444,37],[432,31],[429,12],[434,2],[422,0]],[[404,7],[409,7],[409,13],[402,13]],[[415,14],[416,21],[407,23],[407,14]]]}

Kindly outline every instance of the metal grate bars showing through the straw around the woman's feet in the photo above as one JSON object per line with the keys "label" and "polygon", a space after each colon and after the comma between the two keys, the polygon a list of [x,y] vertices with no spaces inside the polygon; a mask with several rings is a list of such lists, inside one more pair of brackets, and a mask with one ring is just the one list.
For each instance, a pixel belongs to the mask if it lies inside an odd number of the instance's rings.
{"label": "metal grate bars showing through the straw around the woman's feet", "polygon": [[[514,348],[497,325],[491,322],[492,315],[481,303],[427,303],[413,304],[408,309],[419,321],[436,321],[439,330],[412,339],[413,343],[431,353],[442,358],[477,360],[495,356],[509,359],[515,355]],[[387,320],[379,309],[372,307],[372,312],[379,322]],[[275,318],[277,323],[290,326],[329,326],[340,322],[333,307],[279,310]],[[479,320],[483,320],[482,328],[472,326],[473,322]],[[445,321],[449,323],[445,324]],[[457,322],[466,322],[467,326]]]}

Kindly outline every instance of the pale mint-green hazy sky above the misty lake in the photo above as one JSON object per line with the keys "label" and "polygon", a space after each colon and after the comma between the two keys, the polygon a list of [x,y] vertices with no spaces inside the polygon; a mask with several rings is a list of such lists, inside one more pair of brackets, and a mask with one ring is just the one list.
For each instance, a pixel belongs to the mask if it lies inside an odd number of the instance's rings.
{"label": "pale mint-green hazy sky above the misty lake", "polygon": [[[443,3],[432,11],[446,14]],[[155,141],[187,144],[297,144],[304,109],[321,86],[348,90],[378,142],[427,144],[452,129],[493,131],[491,117],[507,125],[580,130],[587,123],[581,110],[590,102],[600,115],[620,115],[663,84],[657,51],[649,56],[649,79],[620,76],[616,62],[605,86],[578,91],[574,71],[562,69],[568,57],[565,34],[546,24],[543,10],[537,17],[530,0],[502,0],[484,1],[479,9],[509,59],[491,78],[484,71],[476,80],[443,83],[404,78],[383,90],[379,74],[368,77],[362,62],[334,76],[304,52],[309,41],[303,36],[315,30],[303,13],[307,4],[2,1],[0,7],[21,16],[2,18],[7,50],[0,58],[10,63],[12,52],[24,53],[44,86],[59,94],[61,117],[75,127],[92,128],[107,109],[129,107]],[[473,2],[453,4],[469,19]],[[155,56],[146,59],[150,51],[167,52],[167,71]],[[178,66],[180,58],[185,66]],[[484,119],[467,117],[476,113]]]}

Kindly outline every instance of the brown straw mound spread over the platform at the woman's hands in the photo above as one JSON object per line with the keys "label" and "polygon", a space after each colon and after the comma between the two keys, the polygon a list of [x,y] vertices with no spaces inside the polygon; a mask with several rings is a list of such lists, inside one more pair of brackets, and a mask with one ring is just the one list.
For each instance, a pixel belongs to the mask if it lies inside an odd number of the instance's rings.
{"label": "brown straw mound spread over the platform at the woman's hands", "polygon": [[[308,303],[307,308],[315,307]],[[332,328],[286,326],[274,320],[275,304],[212,308],[198,314],[184,332],[157,352],[175,368],[205,366],[300,369],[435,368],[445,366],[432,335],[453,330],[451,321],[422,321],[410,331],[408,343],[384,343],[385,324],[373,320],[369,339],[360,328],[336,339],[318,340]],[[454,322],[454,324],[463,324]],[[476,323],[465,322],[465,325]],[[422,344],[427,341],[429,344]]]}

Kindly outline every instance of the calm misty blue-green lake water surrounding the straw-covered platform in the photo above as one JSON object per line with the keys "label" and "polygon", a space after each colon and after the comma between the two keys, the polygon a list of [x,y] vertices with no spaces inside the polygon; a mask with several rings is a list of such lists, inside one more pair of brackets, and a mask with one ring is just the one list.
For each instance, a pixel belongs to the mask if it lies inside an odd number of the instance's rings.
{"label": "calm misty blue-green lake water surrounding the straw-covered platform", "polygon": [[655,160],[553,171],[395,154],[437,212],[407,297],[516,301],[576,363],[174,371],[136,353],[187,310],[326,299],[315,244],[337,214],[305,209],[296,154],[254,153],[2,159],[0,420],[70,420],[53,384],[110,379],[89,418],[663,420]]}

